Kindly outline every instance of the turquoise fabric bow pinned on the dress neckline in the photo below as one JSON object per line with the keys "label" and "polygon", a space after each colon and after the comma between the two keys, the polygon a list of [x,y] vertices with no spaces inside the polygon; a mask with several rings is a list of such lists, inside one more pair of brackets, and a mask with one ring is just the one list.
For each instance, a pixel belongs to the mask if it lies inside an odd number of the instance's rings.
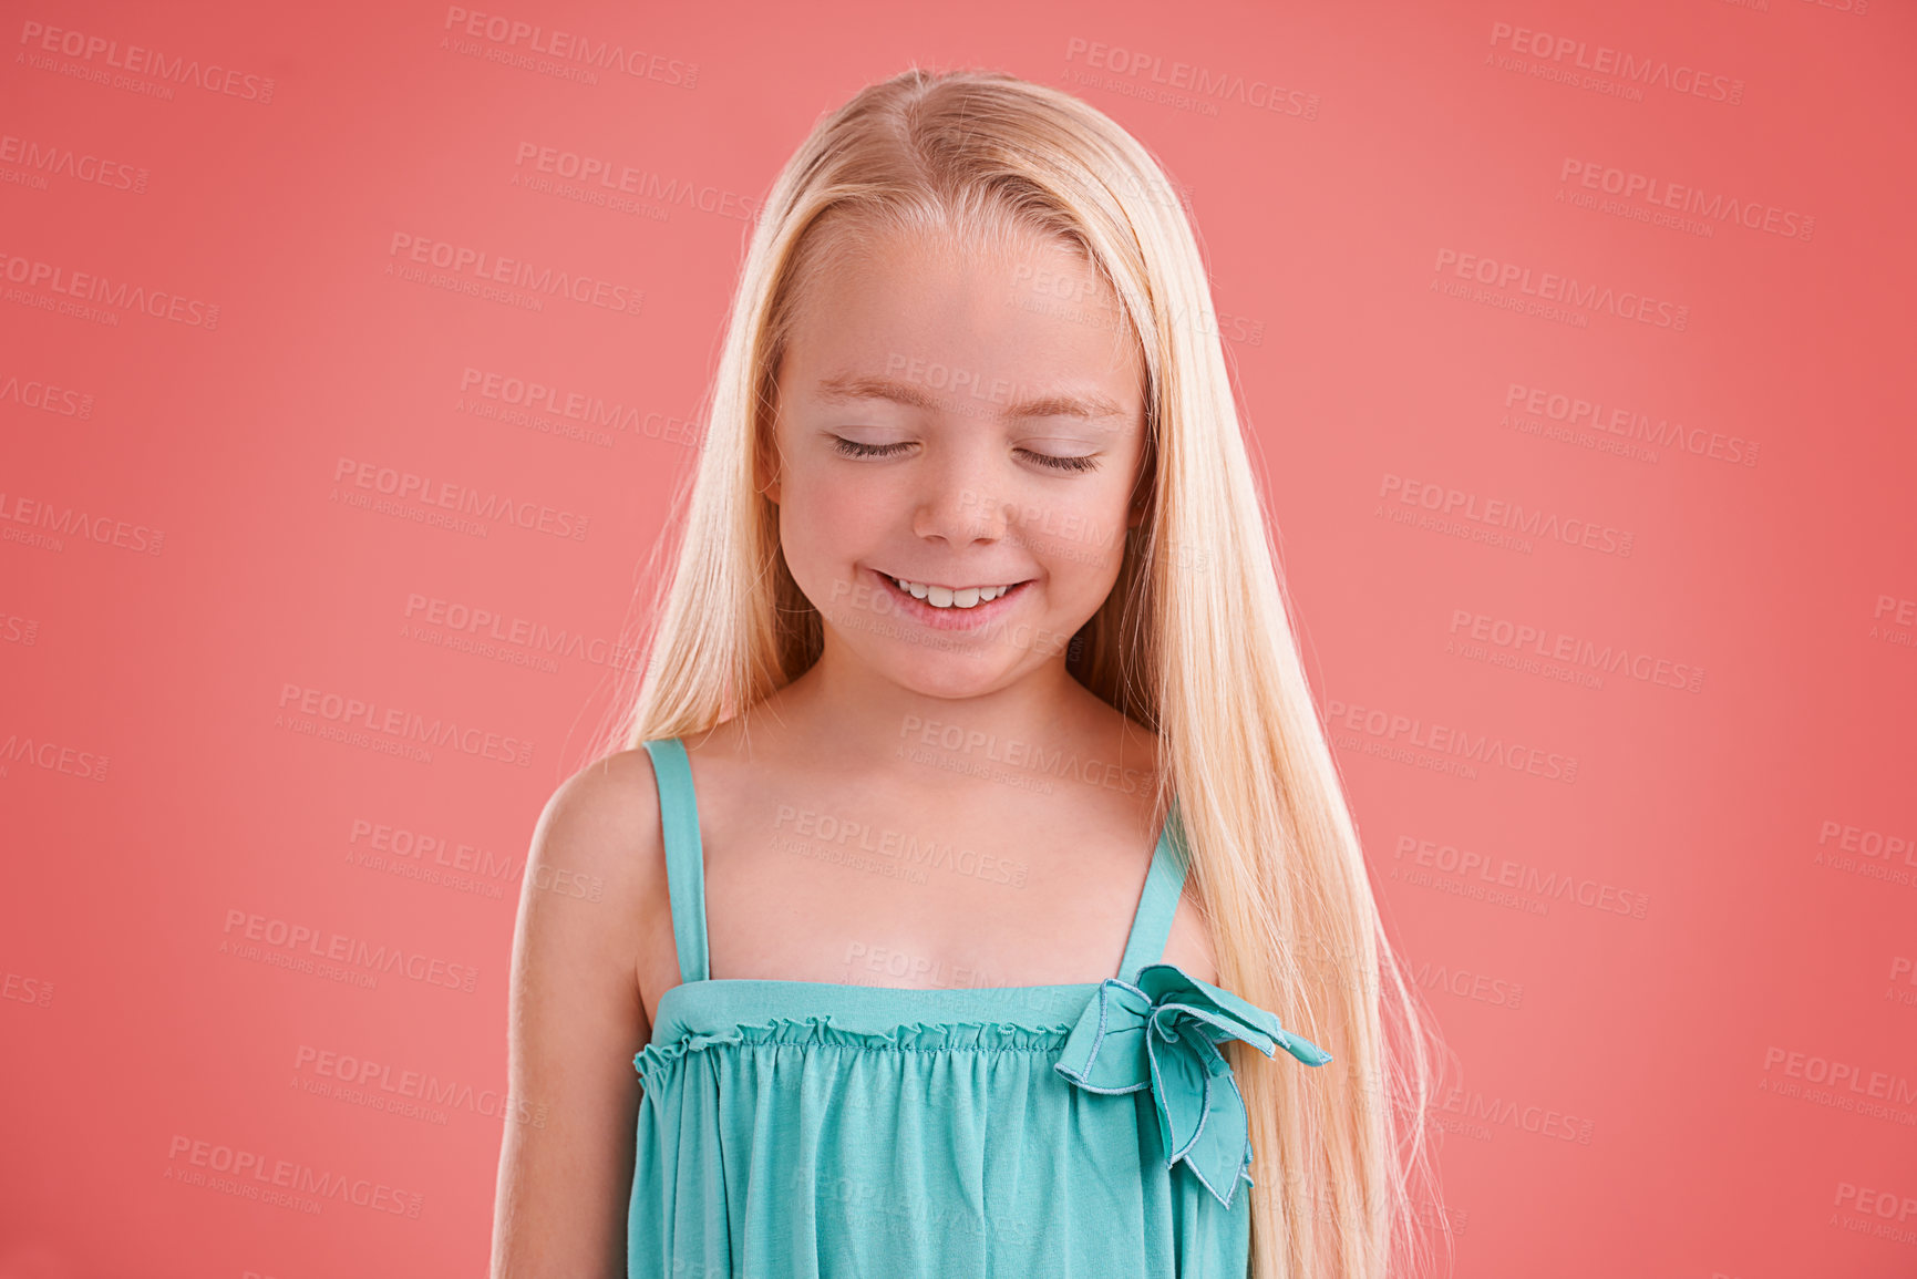
{"label": "turquoise fabric bow pinned on the dress neckline", "polygon": [[1279,1018],[1177,965],[1146,965],[1139,984],[1106,978],[1066,1037],[1052,1070],[1091,1093],[1152,1089],[1167,1166],[1185,1162],[1225,1208],[1250,1181],[1252,1135],[1244,1097],[1217,1049],[1242,1039],[1265,1057],[1284,1049],[1307,1066],[1330,1053]]}

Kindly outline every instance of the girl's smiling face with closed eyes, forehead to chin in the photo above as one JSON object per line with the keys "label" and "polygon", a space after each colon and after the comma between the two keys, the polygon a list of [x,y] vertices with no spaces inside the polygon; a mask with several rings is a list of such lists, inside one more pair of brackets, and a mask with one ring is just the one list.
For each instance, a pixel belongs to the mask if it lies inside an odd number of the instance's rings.
{"label": "girl's smiling face with closed eyes, forehead to chin", "polygon": [[1143,518],[1144,364],[1068,245],[888,238],[815,276],[774,437],[822,660],[978,696],[1062,669],[1112,593]]}

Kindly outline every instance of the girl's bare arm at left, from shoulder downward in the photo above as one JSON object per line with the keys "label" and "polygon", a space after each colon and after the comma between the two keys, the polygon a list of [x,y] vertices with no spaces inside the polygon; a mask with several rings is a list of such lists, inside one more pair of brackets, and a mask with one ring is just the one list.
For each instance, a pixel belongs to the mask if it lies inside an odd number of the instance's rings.
{"label": "girl's bare arm at left, from shoulder downward", "polygon": [[644,752],[589,765],[539,815],[512,942],[493,1279],[625,1275],[633,1055],[652,1034],[636,957],[656,861]]}

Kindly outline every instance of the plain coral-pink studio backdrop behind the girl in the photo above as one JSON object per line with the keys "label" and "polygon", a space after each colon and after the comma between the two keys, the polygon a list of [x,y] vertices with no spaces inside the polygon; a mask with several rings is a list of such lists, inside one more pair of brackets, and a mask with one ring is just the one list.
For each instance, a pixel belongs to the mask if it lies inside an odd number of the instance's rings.
{"label": "plain coral-pink studio backdrop behind the girl", "polygon": [[0,1273],[483,1271],[520,871],[746,217],[912,63],[1072,88],[1185,190],[1461,1064],[1457,1273],[1917,1273],[1907,4],[8,8]]}

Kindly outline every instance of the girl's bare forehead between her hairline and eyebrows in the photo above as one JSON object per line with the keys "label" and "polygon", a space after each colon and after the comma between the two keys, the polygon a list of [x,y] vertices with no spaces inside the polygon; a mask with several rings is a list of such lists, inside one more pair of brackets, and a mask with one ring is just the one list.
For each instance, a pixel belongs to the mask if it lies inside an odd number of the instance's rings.
{"label": "girl's bare forehead between her hairline and eyebrows", "polygon": [[[893,232],[838,245],[794,313],[780,382],[842,397],[872,380],[926,399],[1143,405],[1144,362],[1112,288],[1074,245]],[[909,399],[909,397],[907,397]]]}

